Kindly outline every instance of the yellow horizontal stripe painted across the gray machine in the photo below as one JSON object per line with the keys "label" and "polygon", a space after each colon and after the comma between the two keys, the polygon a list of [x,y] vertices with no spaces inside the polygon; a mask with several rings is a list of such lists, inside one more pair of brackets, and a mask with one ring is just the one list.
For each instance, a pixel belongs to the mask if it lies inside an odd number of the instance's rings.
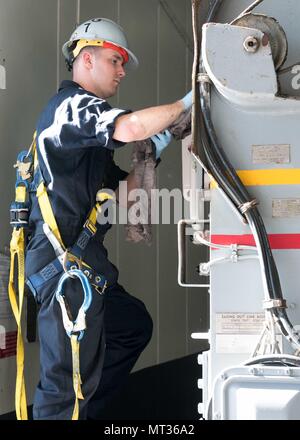
{"label": "yellow horizontal stripe painted across the gray machine", "polygon": [[[237,174],[245,186],[300,185],[300,168],[238,170]],[[217,186],[212,181],[211,188]]]}

